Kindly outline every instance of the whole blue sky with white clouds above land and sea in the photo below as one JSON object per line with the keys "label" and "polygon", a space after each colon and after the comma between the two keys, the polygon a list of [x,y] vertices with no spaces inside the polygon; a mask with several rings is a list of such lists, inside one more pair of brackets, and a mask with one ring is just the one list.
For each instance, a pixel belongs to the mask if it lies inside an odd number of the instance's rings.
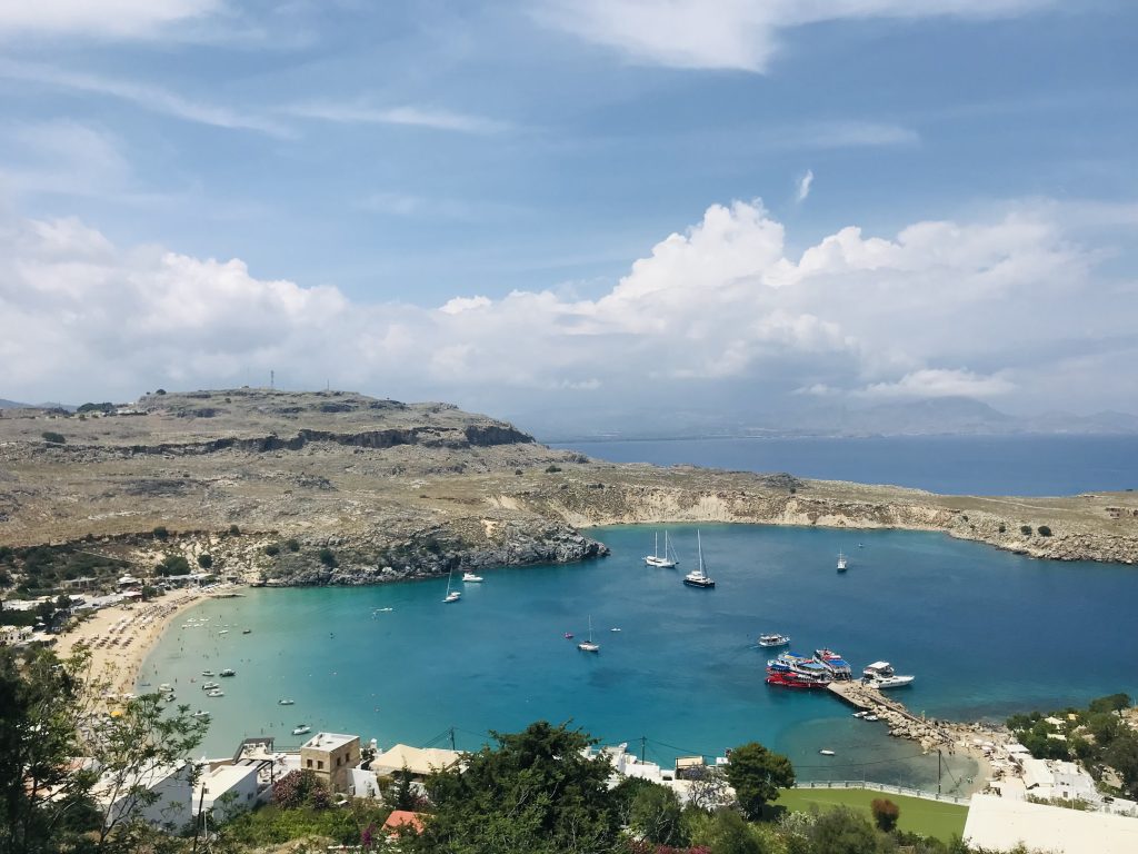
{"label": "whole blue sky with white clouds above land and sea", "polygon": [[3,2],[0,397],[1136,411],[1136,32],[1127,0]]}

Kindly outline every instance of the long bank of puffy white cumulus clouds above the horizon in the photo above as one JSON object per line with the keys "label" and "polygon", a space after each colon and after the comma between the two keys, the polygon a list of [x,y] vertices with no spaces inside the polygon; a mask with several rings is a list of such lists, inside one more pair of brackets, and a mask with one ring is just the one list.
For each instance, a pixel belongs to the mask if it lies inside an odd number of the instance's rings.
{"label": "long bank of puffy white cumulus clouds above the horizon", "polygon": [[294,387],[506,409],[587,395],[627,411],[695,393],[725,412],[794,397],[1138,399],[1129,375],[1096,373],[1136,348],[1136,288],[1104,287],[1098,247],[1071,243],[1054,213],[1020,205],[893,237],[849,227],[792,255],[761,203],[712,205],[599,298],[516,290],[437,307],[118,247],[75,219],[15,220],[0,223],[0,394],[127,399],[275,370]]}

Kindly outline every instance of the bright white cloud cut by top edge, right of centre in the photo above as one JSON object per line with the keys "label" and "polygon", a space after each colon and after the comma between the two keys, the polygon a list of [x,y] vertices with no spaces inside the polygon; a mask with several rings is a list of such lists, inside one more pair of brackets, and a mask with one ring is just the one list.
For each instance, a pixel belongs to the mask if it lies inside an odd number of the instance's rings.
{"label": "bright white cloud cut by top edge, right of centre", "polygon": [[543,0],[536,17],[626,58],[765,72],[783,31],[827,20],[1012,17],[1054,0]]}

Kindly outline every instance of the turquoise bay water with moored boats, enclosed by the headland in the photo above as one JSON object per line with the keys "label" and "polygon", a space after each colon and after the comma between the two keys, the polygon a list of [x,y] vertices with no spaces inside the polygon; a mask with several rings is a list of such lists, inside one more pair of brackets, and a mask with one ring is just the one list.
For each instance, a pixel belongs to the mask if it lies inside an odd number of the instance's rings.
{"label": "turquoise bay water with moored boats, enclosed by the headland", "polygon": [[[592,533],[611,557],[488,570],[455,605],[442,602],[445,578],[250,590],[189,611],[211,616],[211,629],[175,623],[143,674],[214,713],[211,755],[244,736],[299,742],[290,732],[300,722],[381,745],[445,745],[453,726],[470,749],[488,729],[544,717],[636,749],[646,737],[649,757],[663,762],[756,739],[787,753],[803,779],[923,786],[935,782],[935,756],[916,758],[914,745],[825,693],[767,687],[769,652],[756,637],[787,633],[793,649],[831,647],[858,668],[888,659],[917,676],[897,696],[931,716],[1003,717],[1138,693],[1135,567],[1037,561],[930,533],[719,525],[701,527],[718,582],[701,591],[679,581],[694,528],[669,531],[679,570],[644,566],[652,529],[602,528]],[[850,556],[843,575],[839,550]],[[575,646],[589,616],[599,655]],[[226,696],[201,696],[200,671],[226,666],[238,671],[216,680]],[[281,697],[296,705],[279,706]],[[958,778],[971,772],[954,765]]]}

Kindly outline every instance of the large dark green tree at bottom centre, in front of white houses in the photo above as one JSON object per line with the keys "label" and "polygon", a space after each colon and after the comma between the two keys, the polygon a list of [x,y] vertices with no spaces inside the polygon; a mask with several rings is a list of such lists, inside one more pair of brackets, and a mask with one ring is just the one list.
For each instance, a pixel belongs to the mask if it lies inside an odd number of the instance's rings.
{"label": "large dark green tree at bottom centre, in front of white houses", "polygon": [[586,758],[594,741],[545,721],[523,732],[492,733],[496,748],[465,757],[463,770],[434,774],[427,791],[435,813],[413,852],[584,854],[620,844],[620,822],[609,793],[611,766]]}

